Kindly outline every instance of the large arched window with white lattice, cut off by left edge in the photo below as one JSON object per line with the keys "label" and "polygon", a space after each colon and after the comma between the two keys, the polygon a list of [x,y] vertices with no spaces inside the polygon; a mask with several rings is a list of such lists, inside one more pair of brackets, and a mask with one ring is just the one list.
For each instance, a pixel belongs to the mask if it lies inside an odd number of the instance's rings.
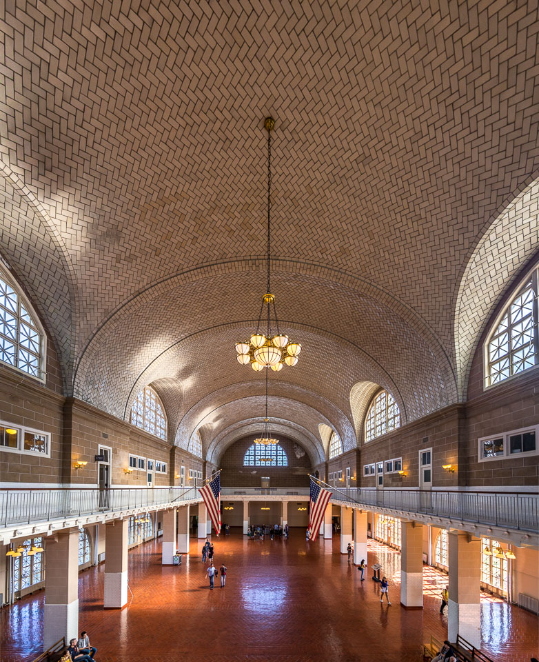
{"label": "large arched window with white lattice, cut off by left edge", "polygon": [[45,334],[30,303],[0,268],[0,361],[45,378]]}

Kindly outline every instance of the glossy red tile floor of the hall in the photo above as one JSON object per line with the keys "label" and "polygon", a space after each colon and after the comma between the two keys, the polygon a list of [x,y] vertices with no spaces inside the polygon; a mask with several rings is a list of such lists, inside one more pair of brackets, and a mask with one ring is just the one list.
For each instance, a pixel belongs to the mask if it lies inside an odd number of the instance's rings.
{"label": "glossy red tile floor of the hall", "polygon": [[[224,589],[208,590],[199,541],[179,567],[161,565],[161,543],[130,552],[133,597],[121,611],[103,611],[103,565],[79,578],[81,629],[101,662],[419,662],[423,641],[447,632],[428,574],[423,610],[399,604],[400,554],[369,543],[390,578],[380,605],[378,585],[338,553],[338,536],[306,543],[303,530],[288,541],[247,541],[239,530],[217,539],[216,564],[228,568]],[[427,570],[427,569],[426,569]],[[436,581],[445,581],[440,576]],[[434,592],[434,595],[432,594]],[[23,662],[41,651],[44,593],[0,610],[0,660]],[[483,602],[483,650],[500,662],[529,662],[539,650],[538,619],[502,601]]]}

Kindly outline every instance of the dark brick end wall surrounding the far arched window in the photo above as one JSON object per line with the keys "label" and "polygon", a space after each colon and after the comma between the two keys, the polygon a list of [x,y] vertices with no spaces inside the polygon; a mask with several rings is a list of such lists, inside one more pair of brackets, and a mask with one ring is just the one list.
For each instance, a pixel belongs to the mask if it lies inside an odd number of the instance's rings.
{"label": "dark brick end wall surrounding the far arched window", "polygon": [[[253,435],[240,439],[233,443],[221,457],[221,484],[225,487],[241,485],[245,487],[261,486],[261,477],[269,476],[271,487],[308,487],[309,478],[307,472],[311,470],[309,456],[301,446],[292,439],[282,435],[279,437],[281,446],[288,457],[287,467],[244,467],[243,458],[247,448],[253,443]],[[294,446],[299,446],[305,454],[298,458],[294,452]]]}

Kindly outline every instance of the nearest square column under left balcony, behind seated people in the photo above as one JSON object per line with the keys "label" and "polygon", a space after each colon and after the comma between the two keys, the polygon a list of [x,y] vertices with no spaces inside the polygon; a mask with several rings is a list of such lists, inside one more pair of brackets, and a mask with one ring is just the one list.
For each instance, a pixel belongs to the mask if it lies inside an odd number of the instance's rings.
{"label": "nearest square column under left balcony, behind seated people", "polygon": [[79,529],[65,529],[45,538],[45,610],[43,648],[62,637],[79,636]]}

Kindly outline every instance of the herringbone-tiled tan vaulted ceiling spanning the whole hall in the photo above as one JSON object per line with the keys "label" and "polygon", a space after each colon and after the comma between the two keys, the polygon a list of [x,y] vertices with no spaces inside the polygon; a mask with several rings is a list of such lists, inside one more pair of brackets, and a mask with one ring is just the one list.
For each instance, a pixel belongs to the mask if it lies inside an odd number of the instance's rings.
{"label": "herringbone-tiled tan vaulted ceiling spanning the whole hall", "polygon": [[[185,434],[202,402],[230,403],[223,430],[252,419],[261,375],[232,345],[265,286],[271,114],[274,289],[305,346],[274,396],[301,391],[312,429],[327,417],[341,434],[358,381],[388,388],[405,421],[462,397],[477,319],[539,243],[536,211],[511,225],[518,260],[486,239],[509,237],[502,212],[538,175],[537,12],[8,3],[0,249],[65,392],[123,417],[154,383]],[[481,260],[500,259],[485,304]]]}

